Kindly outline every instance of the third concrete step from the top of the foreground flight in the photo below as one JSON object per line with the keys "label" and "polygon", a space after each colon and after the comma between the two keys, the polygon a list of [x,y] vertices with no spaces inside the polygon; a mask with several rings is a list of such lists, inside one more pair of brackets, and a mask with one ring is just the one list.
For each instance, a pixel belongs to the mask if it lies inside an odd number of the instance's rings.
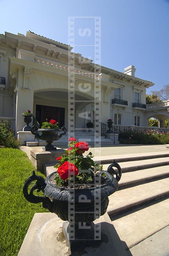
{"label": "third concrete step from the top of the foreground flight", "polygon": [[119,188],[135,185],[136,183],[151,181],[161,177],[169,177],[169,165],[152,167],[149,169],[137,170],[133,172],[124,172],[119,181]]}

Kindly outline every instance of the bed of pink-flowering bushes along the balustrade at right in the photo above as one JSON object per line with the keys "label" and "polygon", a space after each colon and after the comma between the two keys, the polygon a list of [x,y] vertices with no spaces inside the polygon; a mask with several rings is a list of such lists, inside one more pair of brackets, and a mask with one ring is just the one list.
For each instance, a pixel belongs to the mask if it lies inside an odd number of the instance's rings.
{"label": "bed of pink-flowering bushes along the balustrade at right", "polygon": [[124,129],[119,133],[119,141],[123,144],[168,144],[169,132],[157,132],[155,130]]}

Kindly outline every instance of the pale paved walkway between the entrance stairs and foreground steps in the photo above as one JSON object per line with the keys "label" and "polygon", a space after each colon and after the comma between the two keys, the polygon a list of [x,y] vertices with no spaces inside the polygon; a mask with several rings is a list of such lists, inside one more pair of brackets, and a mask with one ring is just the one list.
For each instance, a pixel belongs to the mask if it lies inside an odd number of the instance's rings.
{"label": "pale paved walkway between the entrance stairs and foreground steps", "polygon": [[[60,148],[67,149],[67,145],[59,145]],[[39,149],[41,147],[26,147],[21,146],[20,149],[23,150],[30,159],[30,150]],[[85,153],[91,151],[94,156],[114,156],[114,155],[125,155],[125,154],[136,154],[136,153],[146,153],[146,152],[158,152],[166,151],[166,145],[126,145],[126,144],[116,144],[113,146],[102,145],[100,148],[90,147]]]}

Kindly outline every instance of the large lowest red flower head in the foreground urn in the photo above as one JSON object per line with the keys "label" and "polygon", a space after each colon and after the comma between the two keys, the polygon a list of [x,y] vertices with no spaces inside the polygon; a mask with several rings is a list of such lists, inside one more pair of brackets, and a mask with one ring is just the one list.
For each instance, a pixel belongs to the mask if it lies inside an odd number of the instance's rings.
{"label": "large lowest red flower head in the foreground urn", "polygon": [[58,173],[62,180],[67,180],[73,173],[77,176],[79,169],[74,164],[66,161],[64,164],[59,166]]}

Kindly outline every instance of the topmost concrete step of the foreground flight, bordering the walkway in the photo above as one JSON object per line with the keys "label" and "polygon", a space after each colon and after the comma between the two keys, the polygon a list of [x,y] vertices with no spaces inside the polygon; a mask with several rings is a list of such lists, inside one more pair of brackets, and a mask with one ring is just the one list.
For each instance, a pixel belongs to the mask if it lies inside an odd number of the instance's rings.
{"label": "topmost concrete step of the foreground flight, bordering the walkway", "polygon": [[146,152],[139,154],[125,154],[125,155],[110,155],[110,156],[95,156],[94,161],[100,164],[110,164],[115,159],[117,163],[121,162],[129,162],[129,161],[137,161],[144,159],[152,159],[152,158],[161,158],[161,157],[169,157],[169,153],[167,151],[158,151],[158,152]]}

